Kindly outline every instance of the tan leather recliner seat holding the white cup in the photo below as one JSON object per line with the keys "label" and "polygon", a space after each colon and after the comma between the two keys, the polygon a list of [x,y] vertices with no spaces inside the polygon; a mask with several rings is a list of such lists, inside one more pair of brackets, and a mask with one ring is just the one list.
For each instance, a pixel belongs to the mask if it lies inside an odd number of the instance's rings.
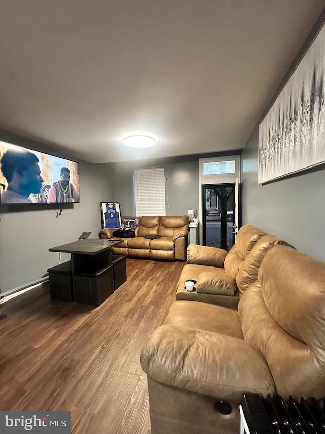
{"label": "tan leather recliner seat holding the white cup", "polygon": [[[290,246],[279,237],[249,224],[239,229],[236,243],[229,252],[190,244],[187,264],[177,284],[176,299],[197,300],[236,309],[239,298],[257,280],[259,266],[266,253],[278,244]],[[196,281],[193,292],[185,289],[188,279]]]}

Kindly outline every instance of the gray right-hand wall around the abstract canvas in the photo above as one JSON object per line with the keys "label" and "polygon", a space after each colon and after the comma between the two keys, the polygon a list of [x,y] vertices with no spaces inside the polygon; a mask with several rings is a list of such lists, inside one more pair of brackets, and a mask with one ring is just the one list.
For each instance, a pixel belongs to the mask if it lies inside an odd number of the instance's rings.
{"label": "gray right-hand wall around the abstract canvas", "polygon": [[258,184],[258,125],[295,70],[300,59],[325,22],[322,12],[306,42],[265,109],[243,149],[243,223],[259,226],[283,237],[297,249],[325,260],[325,169],[303,172],[270,184]]}

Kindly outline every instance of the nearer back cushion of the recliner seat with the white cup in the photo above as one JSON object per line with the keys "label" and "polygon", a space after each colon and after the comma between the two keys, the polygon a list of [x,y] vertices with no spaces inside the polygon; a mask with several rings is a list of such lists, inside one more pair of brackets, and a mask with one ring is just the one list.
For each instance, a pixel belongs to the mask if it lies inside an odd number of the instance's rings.
{"label": "nearer back cushion of the recliner seat with the white cup", "polygon": [[236,275],[236,284],[241,294],[243,294],[251,284],[256,282],[263,258],[272,247],[278,244],[293,247],[279,237],[263,235],[247,254],[245,260],[240,264]]}

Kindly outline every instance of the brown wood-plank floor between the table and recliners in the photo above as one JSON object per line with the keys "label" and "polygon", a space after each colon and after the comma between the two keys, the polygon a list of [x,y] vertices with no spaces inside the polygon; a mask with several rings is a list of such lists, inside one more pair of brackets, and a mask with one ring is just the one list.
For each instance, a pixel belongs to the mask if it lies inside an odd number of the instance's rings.
{"label": "brown wood-plank floor between the table and recliners", "polygon": [[150,433],[140,351],[184,265],[127,259],[127,282],[98,308],[51,302],[47,283],[1,305],[0,410],[69,410],[73,434]]}

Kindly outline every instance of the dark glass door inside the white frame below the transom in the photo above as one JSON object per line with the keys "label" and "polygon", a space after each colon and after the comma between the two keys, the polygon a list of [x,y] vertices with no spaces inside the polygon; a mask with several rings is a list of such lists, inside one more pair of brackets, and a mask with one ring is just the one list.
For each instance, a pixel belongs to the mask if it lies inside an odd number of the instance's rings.
{"label": "dark glass door inside the white frame below the transom", "polygon": [[202,186],[203,245],[230,250],[235,243],[235,184]]}

